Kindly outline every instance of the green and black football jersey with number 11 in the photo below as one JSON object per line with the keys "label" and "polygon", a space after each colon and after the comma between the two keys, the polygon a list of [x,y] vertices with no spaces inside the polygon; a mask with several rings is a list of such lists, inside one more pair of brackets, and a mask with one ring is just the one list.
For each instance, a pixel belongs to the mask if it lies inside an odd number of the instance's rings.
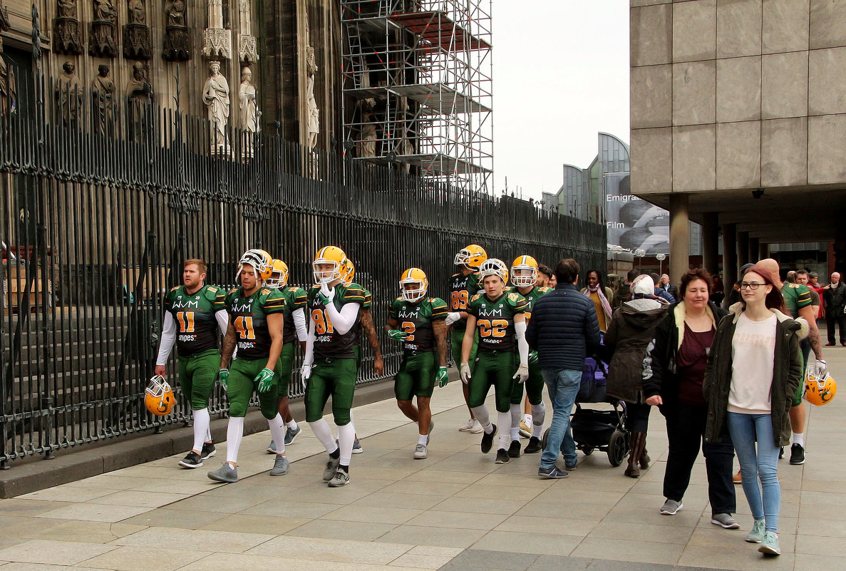
{"label": "green and black football jersey with number 11", "polygon": [[168,292],[164,309],[173,315],[179,332],[176,350],[180,355],[192,355],[218,349],[220,333],[217,332],[215,314],[226,309],[226,294],[221,288],[206,285],[188,294],[184,286],[177,286]]}

